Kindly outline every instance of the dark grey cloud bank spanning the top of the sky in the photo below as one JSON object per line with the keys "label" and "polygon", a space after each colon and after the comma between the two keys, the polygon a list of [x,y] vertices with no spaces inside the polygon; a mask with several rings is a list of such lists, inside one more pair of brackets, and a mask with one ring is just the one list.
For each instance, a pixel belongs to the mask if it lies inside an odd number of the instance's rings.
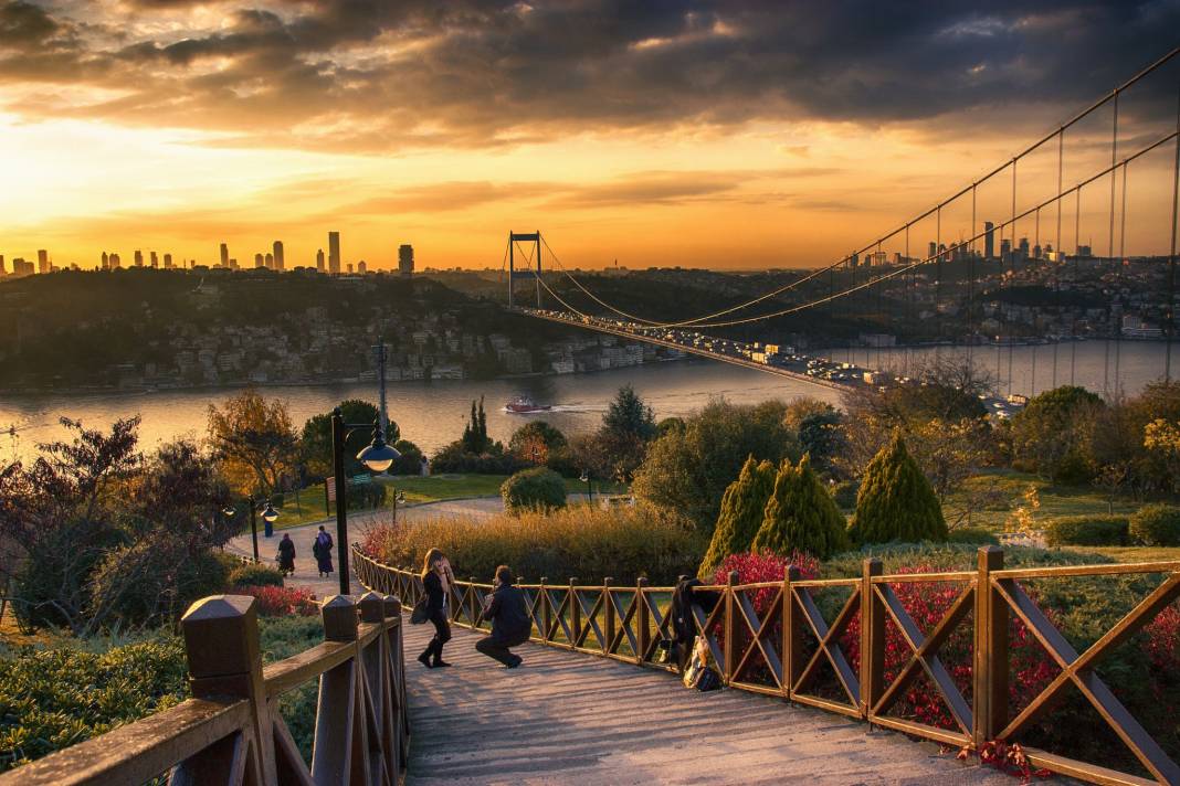
{"label": "dark grey cloud bank spanning the top of the sky", "polygon": [[[122,7],[143,21],[186,5]],[[116,88],[117,100],[74,111],[227,131],[235,143],[485,146],[754,119],[953,121],[1014,101],[1056,118],[1166,52],[1180,29],[1180,0],[217,7],[228,24],[168,39],[137,34],[127,11],[78,20],[6,2],[0,85]],[[1174,105],[1174,79],[1163,82]]]}

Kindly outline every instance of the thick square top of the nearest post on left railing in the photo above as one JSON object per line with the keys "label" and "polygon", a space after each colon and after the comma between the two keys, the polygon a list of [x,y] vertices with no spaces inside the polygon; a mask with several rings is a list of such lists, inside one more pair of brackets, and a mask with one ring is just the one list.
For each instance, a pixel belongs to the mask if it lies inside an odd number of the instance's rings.
{"label": "thick square top of the nearest post on left railing", "polygon": [[181,617],[189,675],[245,674],[261,665],[257,601],[250,595],[202,597]]}

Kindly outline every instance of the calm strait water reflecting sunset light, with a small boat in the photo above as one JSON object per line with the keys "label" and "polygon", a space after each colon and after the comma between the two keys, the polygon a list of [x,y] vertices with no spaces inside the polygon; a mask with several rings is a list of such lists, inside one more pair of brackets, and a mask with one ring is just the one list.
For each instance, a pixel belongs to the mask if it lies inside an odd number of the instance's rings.
{"label": "calm strait water reflecting sunset light, with a small boat", "polygon": [[[905,364],[917,366],[918,359],[935,354],[962,352],[962,349],[835,349],[825,355],[835,361],[877,365],[896,370]],[[1007,394],[1009,350],[994,346],[972,348],[976,362],[991,374],[999,370]],[[1121,388],[1134,395],[1145,384],[1163,375],[1166,345],[1162,342],[1089,341],[1051,345],[1014,346],[1011,349],[1012,392],[1041,392],[1070,382],[1070,366],[1077,384],[1102,392],[1103,383],[1113,390],[1114,363],[1119,358]],[[1076,352],[1076,355],[1074,355]],[[818,354],[818,352],[817,352]],[[1174,358],[1180,363],[1180,356]],[[1071,362],[1073,361],[1073,362]],[[1109,374],[1107,374],[1109,370]],[[715,361],[682,361],[576,375],[548,375],[511,379],[461,382],[402,382],[388,387],[389,417],[401,427],[401,434],[418,443],[427,454],[457,440],[471,408],[471,401],[485,397],[487,428],[492,437],[507,440],[529,418],[545,420],[568,434],[597,427],[608,402],[623,384],[632,384],[651,404],[656,417],[684,416],[703,407],[710,398],[725,397],[734,403],[752,404],[768,398],[789,401],[813,396],[839,404],[839,394],[828,388],[762,374],[756,370]],[[376,401],[374,382],[339,385],[290,385],[262,388],[268,398],[287,402],[296,428],[316,414],[329,411],[346,398]],[[0,398],[0,429],[12,424],[21,430],[13,440],[0,434],[0,457],[28,457],[38,442],[58,438],[63,431],[60,417],[80,420],[88,428],[105,428],[119,417],[140,415],[140,440],[145,449],[182,436],[201,438],[205,432],[209,404],[221,403],[234,391],[227,389],[163,390],[149,394],[37,395]],[[553,410],[539,415],[510,415],[504,403],[526,395],[538,403],[552,404]]]}

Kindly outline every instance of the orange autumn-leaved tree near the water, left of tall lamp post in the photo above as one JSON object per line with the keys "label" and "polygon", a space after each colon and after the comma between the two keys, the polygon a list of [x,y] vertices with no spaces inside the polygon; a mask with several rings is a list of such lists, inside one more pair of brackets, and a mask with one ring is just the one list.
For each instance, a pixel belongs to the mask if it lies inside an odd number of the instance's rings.
{"label": "orange autumn-leaved tree near the water, left of tall lamp post", "polygon": [[297,437],[287,405],[267,402],[254,388],[209,405],[209,444],[238,494],[270,494],[294,469]]}

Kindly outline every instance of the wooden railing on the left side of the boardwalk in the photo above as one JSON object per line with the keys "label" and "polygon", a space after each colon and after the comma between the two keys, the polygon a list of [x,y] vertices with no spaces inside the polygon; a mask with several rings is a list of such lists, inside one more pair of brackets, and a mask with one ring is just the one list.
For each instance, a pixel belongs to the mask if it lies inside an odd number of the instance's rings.
{"label": "wooden railing on the left side of the boardwalk", "polygon": [[[393,786],[408,728],[401,603],[322,605],[324,641],[263,668],[255,599],[205,597],[182,620],[192,699],[0,775],[0,786],[312,784]],[[319,679],[308,767],[278,698]]]}

